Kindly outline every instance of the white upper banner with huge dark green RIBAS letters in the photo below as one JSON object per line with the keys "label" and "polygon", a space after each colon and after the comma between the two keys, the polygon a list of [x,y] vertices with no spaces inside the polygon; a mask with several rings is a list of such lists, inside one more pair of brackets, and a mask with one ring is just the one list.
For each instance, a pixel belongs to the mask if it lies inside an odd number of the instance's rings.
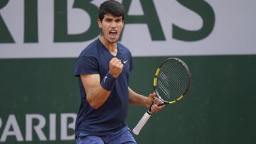
{"label": "white upper banner with huge dark green RIBAS letters", "polygon": [[[56,1],[62,5],[56,5]],[[99,32],[91,26],[96,25],[97,16],[93,13],[97,11],[99,1],[70,0],[66,6],[63,1],[56,1],[38,0],[35,3],[9,0],[0,4],[0,18],[3,20],[0,21],[0,58],[77,57],[86,45],[97,38]],[[197,1],[196,6],[191,1],[149,1],[154,2],[152,4],[156,13],[151,19],[159,20],[159,24],[154,23],[157,27],[150,27],[149,22],[144,21],[125,21],[120,41],[132,51],[133,56],[256,54],[255,0],[248,0],[246,3],[233,0]],[[32,9],[36,14],[31,16],[28,11],[25,13],[26,6],[38,6],[38,9]],[[90,10],[86,6],[90,6]],[[128,6],[128,10],[131,10],[127,11],[128,16],[146,16],[141,10],[149,8],[143,6],[143,1],[133,1]],[[198,6],[203,7],[203,10]],[[58,12],[64,11],[63,8],[67,9],[66,16]],[[207,19],[209,16],[204,15],[205,9],[213,14],[216,21]],[[38,23],[33,23],[36,20]],[[66,29],[61,23],[63,21],[67,21]],[[196,35],[200,37],[207,32],[195,33],[201,29],[206,30],[205,25],[213,25],[213,29],[203,38],[193,40]],[[37,28],[37,31],[33,28]],[[90,28],[97,33],[89,33],[86,35],[89,38],[79,40],[84,38],[82,34]],[[154,31],[156,28],[162,32]],[[67,33],[64,32],[63,36],[61,30],[66,30]],[[153,40],[152,35],[158,32],[162,37],[160,40]]]}

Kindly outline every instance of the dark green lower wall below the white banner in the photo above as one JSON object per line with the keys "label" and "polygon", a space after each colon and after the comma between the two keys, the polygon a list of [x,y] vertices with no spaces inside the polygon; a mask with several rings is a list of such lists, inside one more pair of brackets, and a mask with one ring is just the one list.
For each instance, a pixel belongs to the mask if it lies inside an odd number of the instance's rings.
{"label": "dark green lower wall below the white banner", "polygon": [[[180,103],[151,116],[141,133],[134,135],[137,142],[256,143],[256,55],[180,58],[191,69],[191,91]],[[165,59],[134,57],[130,87],[144,95],[152,92],[154,71]],[[16,116],[23,137],[17,142],[15,136],[8,136],[3,143],[75,143],[60,140],[61,113],[76,113],[79,107],[74,62],[74,58],[0,60],[0,139],[11,114]],[[145,111],[143,107],[130,107],[130,128]],[[46,118],[46,141],[39,140],[34,131],[33,141],[26,141],[25,116],[31,113]],[[50,113],[56,115],[55,140],[49,140]],[[37,123],[33,121],[33,125]],[[73,134],[72,128],[68,128],[68,134]]]}

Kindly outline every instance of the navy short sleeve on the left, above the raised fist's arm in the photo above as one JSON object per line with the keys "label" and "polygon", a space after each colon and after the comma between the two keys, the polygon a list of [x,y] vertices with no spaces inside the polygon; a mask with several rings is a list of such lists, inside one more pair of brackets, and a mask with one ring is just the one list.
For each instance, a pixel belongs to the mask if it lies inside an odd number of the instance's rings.
{"label": "navy short sleeve on the left, above the raised fist's arm", "polygon": [[74,75],[78,77],[80,74],[98,74],[99,67],[95,57],[80,56],[75,61]]}

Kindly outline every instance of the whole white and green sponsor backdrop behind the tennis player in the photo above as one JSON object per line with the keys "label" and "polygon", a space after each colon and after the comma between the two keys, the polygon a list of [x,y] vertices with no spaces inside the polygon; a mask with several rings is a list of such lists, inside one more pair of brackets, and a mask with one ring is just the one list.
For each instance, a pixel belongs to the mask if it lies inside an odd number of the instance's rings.
{"label": "whole white and green sponsor backdrop behind the tennis player", "polygon": [[[154,114],[138,143],[256,143],[256,1],[120,1],[129,86],[152,92],[156,67],[180,57],[192,87]],[[99,34],[102,0],[0,1],[0,143],[75,143],[75,57]],[[146,111],[130,106],[133,128]]]}

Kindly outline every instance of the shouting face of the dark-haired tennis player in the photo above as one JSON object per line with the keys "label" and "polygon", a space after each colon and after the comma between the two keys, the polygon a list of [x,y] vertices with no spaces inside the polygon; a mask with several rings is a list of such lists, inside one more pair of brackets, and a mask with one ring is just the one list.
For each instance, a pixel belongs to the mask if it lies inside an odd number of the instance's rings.
{"label": "shouting face of the dark-haired tennis player", "polygon": [[122,16],[117,17],[107,13],[102,22],[98,19],[98,26],[102,28],[101,36],[105,42],[116,43],[122,32],[124,21],[122,21]]}

